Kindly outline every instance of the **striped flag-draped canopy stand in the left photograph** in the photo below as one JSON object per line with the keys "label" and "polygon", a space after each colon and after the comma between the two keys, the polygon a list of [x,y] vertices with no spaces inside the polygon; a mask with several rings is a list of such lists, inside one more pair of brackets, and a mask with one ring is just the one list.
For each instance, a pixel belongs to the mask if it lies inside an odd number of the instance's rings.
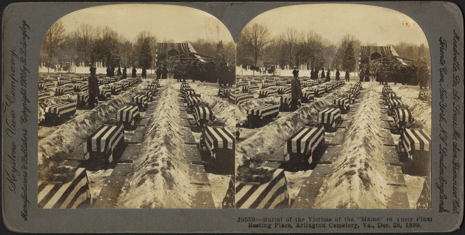
{"label": "striped flag-draped canopy stand in the left photograph", "polygon": [[191,62],[206,62],[205,59],[213,59],[200,55],[190,43],[157,43],[155,62],[169,63],[170,59],[191,59]]}

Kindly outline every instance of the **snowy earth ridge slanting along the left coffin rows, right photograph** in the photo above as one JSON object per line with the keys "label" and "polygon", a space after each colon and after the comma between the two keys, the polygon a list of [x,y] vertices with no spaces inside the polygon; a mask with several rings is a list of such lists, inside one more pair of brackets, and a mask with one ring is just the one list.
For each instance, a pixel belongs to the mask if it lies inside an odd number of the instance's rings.
{"label": "snowy earth ridge slanting along the left coffin rows, right photograph", "polygon": [[[304,104],[297,111],[290,112],[265,127],[260,127],[257,133],[236,145],[236,168],[243,164],[243,157],[257,158],[257,156],[276,151],[282,152],[281,146],[284,145],[287,138],[305,123],[316,120],[319,111],[332,104],[336,97],[344,94],[352,86],[353,83],[347,83],[345,86],[332,91],[331,94],[317,98],[309,104]],[[239,112],[238,114],[240,115]]]}

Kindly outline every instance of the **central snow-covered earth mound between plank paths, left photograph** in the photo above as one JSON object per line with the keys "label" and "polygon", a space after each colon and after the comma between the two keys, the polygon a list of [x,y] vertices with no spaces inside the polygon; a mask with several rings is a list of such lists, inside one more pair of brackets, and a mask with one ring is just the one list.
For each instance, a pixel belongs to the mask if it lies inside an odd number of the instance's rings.
{"label": "central snow-covered earth mound between plank paths, left photograph", "polygon": [[180,136],[179,92],[173,80],[164,89],[150,124],[134,172],[126,178],[118,199],[120,208],[192,208],[195,189]]}

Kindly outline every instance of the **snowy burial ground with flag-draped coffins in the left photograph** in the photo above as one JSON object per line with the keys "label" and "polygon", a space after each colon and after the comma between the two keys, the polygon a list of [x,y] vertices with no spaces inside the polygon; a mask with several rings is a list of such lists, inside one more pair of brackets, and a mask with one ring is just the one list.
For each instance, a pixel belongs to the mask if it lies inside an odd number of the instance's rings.
{"label": "snowy burial ground with flag-draped coffins in the left photograph", "polygon": [[40,74],[39,208],[222,208],[232,200],[235,108],[218,83],[97,74],[101,95],[89,108],[87,76]]}

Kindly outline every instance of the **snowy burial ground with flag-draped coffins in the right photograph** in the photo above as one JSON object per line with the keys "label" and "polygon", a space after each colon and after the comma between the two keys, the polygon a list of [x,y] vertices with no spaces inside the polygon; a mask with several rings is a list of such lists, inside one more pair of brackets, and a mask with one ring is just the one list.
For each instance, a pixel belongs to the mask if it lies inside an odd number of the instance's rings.
{"label": "snowy burial ground with flag-draped coffins in the right photograph", "polygon": [[[431,93],[237,76],[236,208],[431,208]],[[290,98],[289,98],[290,99]]]}

